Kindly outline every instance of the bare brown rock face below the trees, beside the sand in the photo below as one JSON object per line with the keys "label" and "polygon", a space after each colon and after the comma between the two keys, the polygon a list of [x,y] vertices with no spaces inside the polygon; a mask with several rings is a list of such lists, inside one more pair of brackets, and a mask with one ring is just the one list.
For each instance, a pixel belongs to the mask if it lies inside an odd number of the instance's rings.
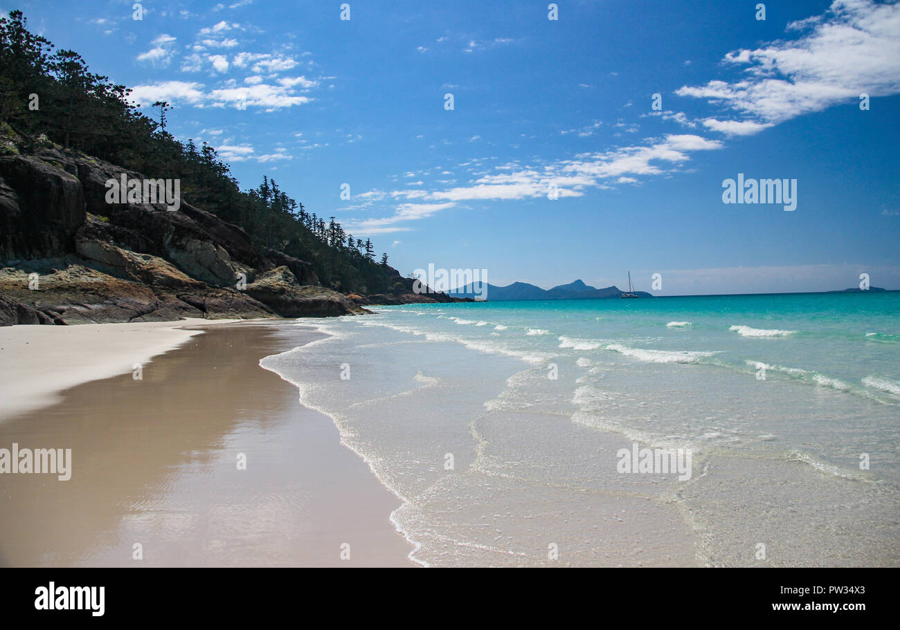
{"label": "bare brown rock face below the trees, beside the sand", "polygon": [[412,280],[386,265],[389,293],[348,297],[320,286],[311,262],[259,253],[241,227],[185,200],[176,210],[107,201],[105,182],[142,181],[141,173],[58,146],[6,153],[0,325],[334,316],[365,314],[371,304],[456,301],[414,294]]}

